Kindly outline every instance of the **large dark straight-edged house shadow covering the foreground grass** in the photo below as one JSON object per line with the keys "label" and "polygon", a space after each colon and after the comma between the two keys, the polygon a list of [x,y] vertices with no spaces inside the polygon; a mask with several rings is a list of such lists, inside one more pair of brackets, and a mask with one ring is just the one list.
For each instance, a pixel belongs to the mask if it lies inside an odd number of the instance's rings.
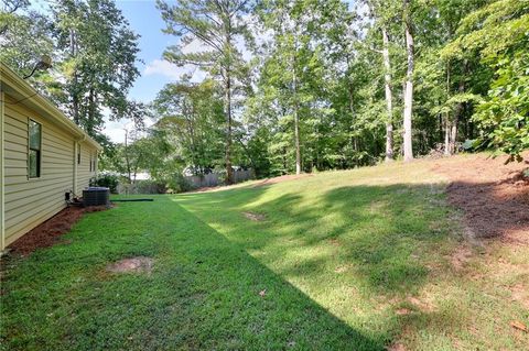
{"label": "large dark straight-edged house shadow covering the foreground grass", "polygon": [[[382,350],[390,339],[352,328],[174,202],[123,204],[67,237],[12,262],[3,347]],[[106,272],[134,255],[154,259],[150,276]]]}

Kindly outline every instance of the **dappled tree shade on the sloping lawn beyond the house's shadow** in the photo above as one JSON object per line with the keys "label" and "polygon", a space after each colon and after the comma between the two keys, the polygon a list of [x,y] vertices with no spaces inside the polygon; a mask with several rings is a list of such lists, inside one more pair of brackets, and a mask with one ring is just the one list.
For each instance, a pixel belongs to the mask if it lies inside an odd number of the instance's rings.
{"label": "dappled tree shade on the sloping lawn beyond the house's shadow", "polygon": [[[278,274],[322,282],[330,268],[354,271],[349,283],[367,294],[419,290],[424,263],[440,254],[452,227],[442,185],[359,185],[311,198],[260,187],[184,196],[181,204]],[[266,220],[249,223],[245,210]]]}

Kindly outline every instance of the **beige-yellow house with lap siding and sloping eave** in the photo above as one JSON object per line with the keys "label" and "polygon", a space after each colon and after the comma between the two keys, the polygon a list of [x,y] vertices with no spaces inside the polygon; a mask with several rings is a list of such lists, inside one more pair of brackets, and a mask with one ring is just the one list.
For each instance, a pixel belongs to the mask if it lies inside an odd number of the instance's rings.
{"label": "beige-yellow house with lap siding and sloping eave", "polygon": [[0,63],[0,251],[66,207],[101,146]]}

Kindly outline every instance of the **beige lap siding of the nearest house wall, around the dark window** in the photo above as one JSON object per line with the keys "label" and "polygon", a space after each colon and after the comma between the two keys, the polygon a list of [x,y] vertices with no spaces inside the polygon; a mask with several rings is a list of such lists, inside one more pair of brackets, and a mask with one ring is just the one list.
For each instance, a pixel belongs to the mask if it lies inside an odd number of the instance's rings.
{"label": "beige lap siding of the nearest house wall, around the dark window", "polygon": [[[4,109],[6,245],[9,245],[65,207],[64,194],[73,189],[74,138],[20,103],[8,102]],[[29,119],[42,125],[41,176],[31,179]]]}

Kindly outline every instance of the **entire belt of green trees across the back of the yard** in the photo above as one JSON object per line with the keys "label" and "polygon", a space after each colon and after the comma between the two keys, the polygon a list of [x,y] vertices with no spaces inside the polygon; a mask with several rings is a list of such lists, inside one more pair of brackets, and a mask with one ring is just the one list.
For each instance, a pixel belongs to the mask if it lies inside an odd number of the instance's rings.
{"label": "entire belt of green trees across the back of the yard", "polygon": [[[529,3],[522,0],[156,1],[195,67],[154,101],[127,96],[138,34],[111,0],[4,3],[0,59],[31,78],[106,146],[100,165],[133,180],[251,167],[258,177],[354,168],[435,151],[529,146]],[[188,47],[199,46],[202,51]],[[31,55],[30,55],[31,53]],[[101,133],[128,118],[127,141]],[[145,130],[147,118],[155,123]]]}

